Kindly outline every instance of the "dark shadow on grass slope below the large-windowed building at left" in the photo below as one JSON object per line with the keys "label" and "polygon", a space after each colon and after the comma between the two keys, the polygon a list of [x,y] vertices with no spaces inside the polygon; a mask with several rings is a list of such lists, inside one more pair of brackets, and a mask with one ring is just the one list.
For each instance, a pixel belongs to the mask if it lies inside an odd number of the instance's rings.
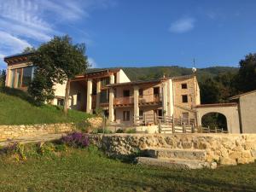
{"label": "dark shadow on grass slope below the large-windowed building at left", "polygon": [[20,99],[31,103],[32,105],[36,105],[36,102],[33,100],[32,96],[29,96],[28,93],[24,90],[18,90],[18,89],[9,88],[9,87],[1,87],[0,92],[9,96],[17,96]]}

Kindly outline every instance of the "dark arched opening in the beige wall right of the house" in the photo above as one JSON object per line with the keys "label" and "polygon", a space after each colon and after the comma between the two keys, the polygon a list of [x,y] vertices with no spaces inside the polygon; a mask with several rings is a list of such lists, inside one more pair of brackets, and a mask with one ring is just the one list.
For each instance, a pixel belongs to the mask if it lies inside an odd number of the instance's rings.
{"label": "dark arched opening in the beige wall right of the house", "polygon": [[206,113],[201,118],[201,125],[204,127],[209,126],[211,129],[216,127],[228,131],[227,119],[222,113]]}

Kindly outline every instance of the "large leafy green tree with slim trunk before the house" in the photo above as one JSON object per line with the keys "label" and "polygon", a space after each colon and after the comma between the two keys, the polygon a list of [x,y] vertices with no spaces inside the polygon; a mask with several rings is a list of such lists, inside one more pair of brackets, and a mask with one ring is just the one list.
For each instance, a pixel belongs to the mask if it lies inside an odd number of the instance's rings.
{"label": "large leafy green tree with slim trunk before the house", "polygon": [[67,113],[70,81],[76,75],[84,73],[89,63],[85,55],[84,44],[73,44],[68,36],[54,37],[29,57],[36,67],[35,79],[29,92],[39,102],[45,102],[54,96],[54,84],[65,84],[64,113]]}

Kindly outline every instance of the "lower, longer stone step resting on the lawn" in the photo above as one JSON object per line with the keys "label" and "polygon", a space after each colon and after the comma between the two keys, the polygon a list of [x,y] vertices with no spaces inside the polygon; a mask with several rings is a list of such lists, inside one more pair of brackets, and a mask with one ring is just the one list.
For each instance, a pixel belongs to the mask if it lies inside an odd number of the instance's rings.
{"label": "lower, longer stone step resting on the lawn", "polygon": [[155,159],[151,157],[137,157],[136,160],[139,165],[163,166],[171,169],[215,169],[217,167],[216,162],[208,163],[203,160]]}

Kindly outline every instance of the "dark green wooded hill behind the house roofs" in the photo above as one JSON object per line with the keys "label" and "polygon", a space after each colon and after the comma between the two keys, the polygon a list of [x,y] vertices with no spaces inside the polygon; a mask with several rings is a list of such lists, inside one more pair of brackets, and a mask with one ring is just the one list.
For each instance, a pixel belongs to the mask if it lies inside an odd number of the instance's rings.
{"label": "dark green wooded hill behind the house roofs", "polygon": [[[166,77],[188,75],[192,73],[191,68],[187,67],[178,67],[178,66],[159,66],[159,67],[121,67],[124,69],[127,76],[132,80],[147,80],[147,79],[158,79],[163,77],[163,74]],[[237,67],[207,67],[207,68],[198,68],[197,76],[199,81],[206,77],[214,77],[220,73],[236,73],[238,71]]]}

